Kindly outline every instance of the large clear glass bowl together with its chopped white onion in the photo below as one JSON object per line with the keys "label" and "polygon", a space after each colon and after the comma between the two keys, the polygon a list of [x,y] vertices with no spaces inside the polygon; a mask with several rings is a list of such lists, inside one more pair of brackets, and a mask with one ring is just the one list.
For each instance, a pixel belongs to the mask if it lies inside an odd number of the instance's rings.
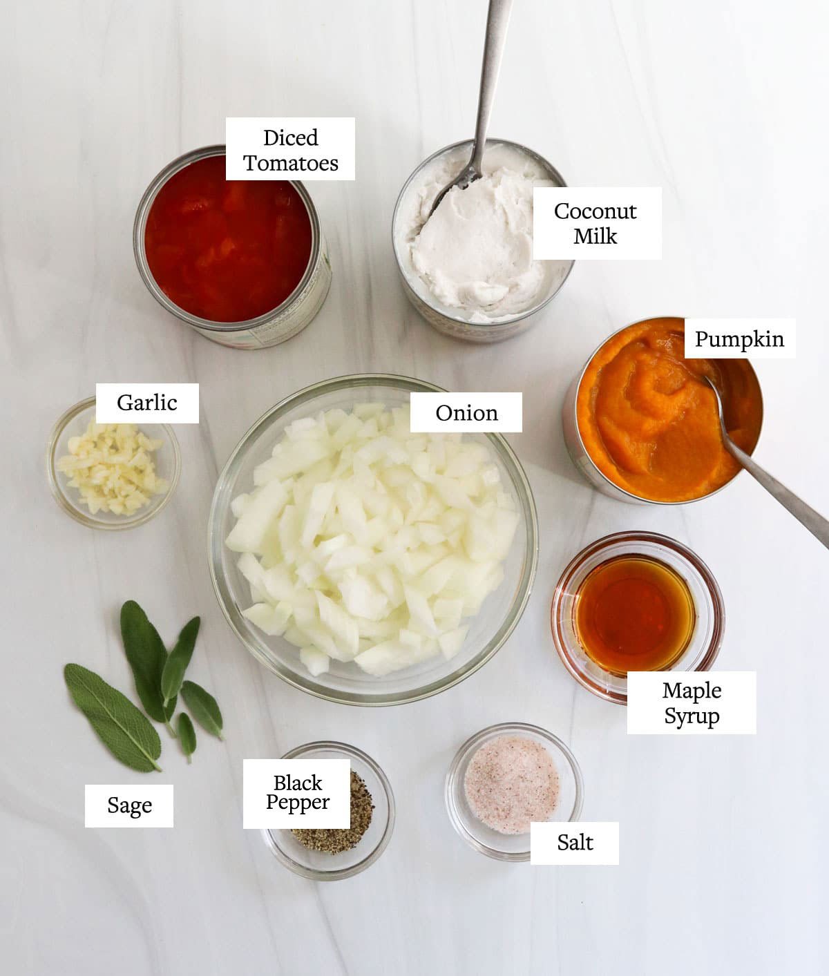
{"label": "large clear glass bowl together with its chopped white onion", "polygon": [[272,407],[219,476],[214,589],[283,680],[346,705],[399,705],[505,643],[538,562],[532,492],[496,433],[412,433],[420,380],[326,380]]}

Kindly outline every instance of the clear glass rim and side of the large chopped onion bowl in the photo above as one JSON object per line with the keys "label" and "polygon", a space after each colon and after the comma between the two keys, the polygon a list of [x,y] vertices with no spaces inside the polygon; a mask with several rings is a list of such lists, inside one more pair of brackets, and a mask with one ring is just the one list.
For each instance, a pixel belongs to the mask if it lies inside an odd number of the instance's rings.
{"label": "clear glass rim and side of the large chopped onion bowl", "polygon": [[538,569],[539,548],[538,514],[535,507],[535,499],[532,494],[532,488],[530,487],[526,472],[518,461],[516,452],[502,434],[484,433],[483,436],[486,437],[493,446],[499,460],[505,465],[505,467],[510,469],[511,473],[515,476],[516,481],[518,482],[519,488],[516,491],[516,494],[518,496],[518,508],[524,521],[525,559],[523,570],[518,581],[518,598],[511,605],[509,612],[504,618],[504,622],[501,624],[499,629],[496,630],[493,638],[490,639],[488,643],[485,644],[484,647],[477,653],[477,656],[466,665],[461,666],[455,671],[450,671],[442,678],[430,681],[424,685],[419,685],[417,688],[410,691],[394,692],[383,696],[375,695],[363,697],[363,695],[358,692],[335,692],[333,689],[329,689],[321,684],[318,684],[315,679],[311,677],[311,675],[306,677],[305,675],[301,674],[298,669],[288,671],[281,664],[273,661],[268,654],[264,653],[258,646],[255,646],[244,635],[239,622],[241,619],[241,614],[238,612],[234,601],[230,598],[229,591],[227,599],[223,594],[223,587],[225,590],[228,590],[228,588],[225,581],[220,578],[221,555],[223,552],[222,546],[224,544],[224,539],[220,538],[220,533],[218,531],[218,508],[220,496],[227,488],[230,475],[233,473],[232,469],[241,464],[241,461],[239,460],[241,456],[244,455],[251,442],[260,433],[267,430],[273,421],[283,417],[286,413],[297,406],[302,406],[303,404],[312,402],[317,396],[323,393],[349,390],[360,388],[362,386],[392,386],[394,388],[407,390],[409,392],[446,392],[446,390],[441,386],[435,386],[435,384],[429,383],[425,380],[417,380],[413,377],[401,376],[394,373],[352,373],[346,376],[321,380],[318,383],[311,384],[311,386],[304,386],[295,393],[291,393],[289,396],[279,400],[278,403],[274,404],[268,411],[266,411],[242,435],[235,448],[233,448],[233,451],[231,452],[224,468],[222,468],[219,474],[216,482],[216,488],[213,493],[213,501],[211,502],[210,506],[210,514],[208,516],[207,554],[213,590],[216,594],[217,600],[219,601],[219,605],[222,608],[222,612],[225,615],[225,619],[228,621],[230,629],[233,631],[233,633],[235,633],[242,645],[257,659],[257,661],[268,668],[269,671],[272,671],[278,675],[278,677],[280,677],[287,684],[290,684],[295,688],[299,688],[301,691],[314,695],[317,698],[321,698],[324,701],[336,702],[341,705],[383,708],[392,705],[407,705],[410,702],[418,702],[425,698],[431,698],[433,695],[436,695],[441,691],[446,691],[448,688],[459,684],[464,680],[464,678],[469,677],[471,674],[475,673],[475,671],[482,668],[483,665],[485,665],[490,658],[494,657],[494,655],[504,646],[513,630],[515,630],[518,626],[518,621],[521,619],[521,616],[526,609],[526,605],[529,602],[529,597],[535,581],[535,574],[536,570]]}

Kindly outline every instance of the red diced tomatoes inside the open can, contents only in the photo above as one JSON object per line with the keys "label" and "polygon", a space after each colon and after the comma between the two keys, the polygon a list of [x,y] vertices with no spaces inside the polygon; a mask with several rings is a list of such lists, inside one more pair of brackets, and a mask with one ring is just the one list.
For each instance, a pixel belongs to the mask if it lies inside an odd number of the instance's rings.
{"label": "red diced tomatoes inside the open can, contents only", "polygon": [[242,322],[281,305],[300,283],[311,220],[291,183],[228,181],[225,156],[209,156],[158,191],[145,253],[171,302],[211,322]]}

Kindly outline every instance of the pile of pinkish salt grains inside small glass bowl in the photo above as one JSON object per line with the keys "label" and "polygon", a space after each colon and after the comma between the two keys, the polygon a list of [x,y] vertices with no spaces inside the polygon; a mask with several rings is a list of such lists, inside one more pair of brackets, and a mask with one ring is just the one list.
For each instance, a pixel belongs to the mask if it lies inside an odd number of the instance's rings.
{"label": "pile of pinkish salt grains inside small glass bowl", "polygon": [[502,735],[477,750],[464,790],[477,819],[499,834],[527,834],[559,803],[559,774],[550,753],[532,739]]}

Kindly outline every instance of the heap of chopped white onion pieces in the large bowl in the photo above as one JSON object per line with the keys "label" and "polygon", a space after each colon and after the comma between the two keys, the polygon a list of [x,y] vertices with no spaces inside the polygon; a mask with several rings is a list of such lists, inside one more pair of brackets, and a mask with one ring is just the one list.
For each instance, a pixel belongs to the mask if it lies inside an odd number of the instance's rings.
{"label": "heap of chopped white onion pieces in the large bowl", "polygon": [[486,446],[413,434],[407,407],[294,421],[253,480],[226,540],[251,589],[244,616],[313,675],[331,658],[376,676],[453,658],[518,528]]}

